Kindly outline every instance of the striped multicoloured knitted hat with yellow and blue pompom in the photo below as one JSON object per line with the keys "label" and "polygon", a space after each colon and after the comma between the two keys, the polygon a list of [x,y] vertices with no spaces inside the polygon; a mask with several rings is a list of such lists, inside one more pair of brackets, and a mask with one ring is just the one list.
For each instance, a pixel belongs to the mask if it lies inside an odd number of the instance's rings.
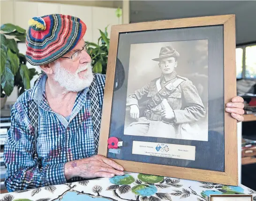
{"label": "striped multicoloured knitted hat with yellow and blue pompom", "polygon": [[31,65],[48,64],[67,54],[86,31],[82,20],[62,14],[34,17],[29,24],[26,58]]}

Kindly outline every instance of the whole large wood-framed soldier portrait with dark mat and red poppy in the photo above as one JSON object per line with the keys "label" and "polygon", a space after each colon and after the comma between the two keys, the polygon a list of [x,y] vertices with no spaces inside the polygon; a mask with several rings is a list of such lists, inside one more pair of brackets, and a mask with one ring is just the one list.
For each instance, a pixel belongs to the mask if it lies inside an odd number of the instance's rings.
{"label": "whole large wood-framed soldier portrait with dark mat and red poppy", "polygon": [[128,172],[238,185],[234,96],[234,15],[112,26],[98,154]]}

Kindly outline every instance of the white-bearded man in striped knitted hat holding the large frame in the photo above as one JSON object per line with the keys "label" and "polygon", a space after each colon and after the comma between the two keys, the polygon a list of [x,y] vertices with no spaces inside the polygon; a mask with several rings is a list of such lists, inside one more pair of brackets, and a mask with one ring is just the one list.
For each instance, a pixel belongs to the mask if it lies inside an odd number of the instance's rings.
{"label": "white-bearded man in striped knitted hat holding the large frame", "polygon": [[[105,76],[92,73],[85,31],[69,15],[30,20],[26,57],[44,74],[12,108],[4,151],[9,192],[123,175],[123,167],[97,155]],[[230,103],[240,121],[242,101]]]}

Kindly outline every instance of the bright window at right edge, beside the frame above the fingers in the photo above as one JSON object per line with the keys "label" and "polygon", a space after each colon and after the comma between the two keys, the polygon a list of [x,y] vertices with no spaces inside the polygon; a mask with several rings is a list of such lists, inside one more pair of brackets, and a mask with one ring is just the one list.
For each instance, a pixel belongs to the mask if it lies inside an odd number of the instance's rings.
{"label": "bright window at right edge, beside the frame above the fingers", "polygon": [[256,79],[256,44],[237,46],[236,78]]}

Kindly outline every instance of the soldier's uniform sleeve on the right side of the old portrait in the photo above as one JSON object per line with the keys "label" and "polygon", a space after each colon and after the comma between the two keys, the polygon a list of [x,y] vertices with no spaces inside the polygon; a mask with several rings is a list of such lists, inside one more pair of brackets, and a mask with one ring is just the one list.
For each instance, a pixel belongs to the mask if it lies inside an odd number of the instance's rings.
{"label": "soldier's uniform sleeve on the right side of the old portrait", "polygon": [[200,118],[204,117],[206,110],[203,106],[203,102],[197,92],[196,86],[191,81],[187,80],[182,86],[182,105],[184,109],[173,110],[175,115],[175,123],[188,123],[196,122]]}

